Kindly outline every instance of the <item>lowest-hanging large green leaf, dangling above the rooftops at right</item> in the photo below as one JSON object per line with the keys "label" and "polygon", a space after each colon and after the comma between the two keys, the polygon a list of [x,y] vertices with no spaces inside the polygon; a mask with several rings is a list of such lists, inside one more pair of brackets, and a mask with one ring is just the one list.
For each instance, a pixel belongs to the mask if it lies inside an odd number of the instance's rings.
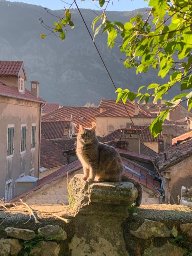
{"label": "lowest-hanging large green leaf, dangling above the rooftops at right", "polygon": [[166,116],[170,112],[170,109],[162,111],[159,116],[149,126],[152,133],[152,137],[156,138],[162,132],[162,123],[166,119]]}

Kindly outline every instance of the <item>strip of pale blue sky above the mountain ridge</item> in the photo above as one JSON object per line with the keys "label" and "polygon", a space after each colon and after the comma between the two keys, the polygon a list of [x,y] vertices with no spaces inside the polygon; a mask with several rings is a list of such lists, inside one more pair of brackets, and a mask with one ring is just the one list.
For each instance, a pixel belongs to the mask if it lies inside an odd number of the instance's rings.
{"label": "strip of pale blue sky above the mountain ridge", "polygon": [[[61,0],[22,0],[22,1],[15,1],[10,0],[11,2],[24,2],[27,4],[36,4],[41,5],[43,7],[47,7],[52,10],[56,9],[63,9],[64,7],[67,7],[68,5],[62,2]],[[65,2],[71,3],[72,0],[64,0]],[[80,8],[90,8],[94,10],[98,10],[99,6],[98,1],[92,1],[92,0],[77,0],[76,1],[78,6]],[[144,0],[113,0],[108,5],[107,10],[113,10],[113,11],[130,11],[135,10],[137,8],[144,8],[148,6],[148,2],[144,2]]]}

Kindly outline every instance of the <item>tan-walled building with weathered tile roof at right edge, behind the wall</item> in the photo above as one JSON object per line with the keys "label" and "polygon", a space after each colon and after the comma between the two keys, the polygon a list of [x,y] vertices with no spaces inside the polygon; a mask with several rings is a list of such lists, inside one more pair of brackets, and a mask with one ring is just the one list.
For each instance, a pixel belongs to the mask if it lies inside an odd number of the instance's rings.
{"label": "tan-walled building with weathered tile roof at right edge, behind the wall", "polygon": [[192,139],[170,146],[166,151],[156,156],[159,171],[166,187],[165,203],[179,204],[182,186],[190,187],[192,184]]}

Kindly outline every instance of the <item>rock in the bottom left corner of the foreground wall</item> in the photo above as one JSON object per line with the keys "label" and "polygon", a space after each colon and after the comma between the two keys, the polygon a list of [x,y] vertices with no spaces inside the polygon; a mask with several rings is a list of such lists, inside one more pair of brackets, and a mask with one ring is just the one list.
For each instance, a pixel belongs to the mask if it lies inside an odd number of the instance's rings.
{"label": "rock in the bottom left corner of the foreground wall", "polygon": [[17,239],[0,239],[0,256],[17,256],[22,246]]}

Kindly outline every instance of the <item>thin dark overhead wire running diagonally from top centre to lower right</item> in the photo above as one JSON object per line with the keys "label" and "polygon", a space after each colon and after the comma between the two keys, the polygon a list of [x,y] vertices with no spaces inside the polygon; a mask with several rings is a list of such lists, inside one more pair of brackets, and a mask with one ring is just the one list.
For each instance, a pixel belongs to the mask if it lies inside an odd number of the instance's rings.
{"label": "thin dark overhead wire running diagonally from top centre to lower right", "polygon": [[[93,44],[94,44],[94,46],[95,46],[95,48],[96,48],[96,50],[97,50],[97,52],[98,52],[98,54],[99,54],[99,56],[100,56],[100,59],[101,59],[103,65],[104,65],[104,67],[105,67],[105,69],[106,69],[106,72],[108,73],[108,75],[109,75],[109,77],[110,77],[110,80],[111,80],[111,82],[112,82],[114,88],[117,90],[116,85],[115,85],[115,83],[114,83],[114,81],[113,81],[113,79],[112,79],[112,77],[111,77],[111,75],[110,75],[110,72],[108,71],[108,68],[107,68],[107,66],[106,66],[106,64],[105,64],[105,62],[104,62],[104,60],[103,60],[103,58],[102,58],[102,56],[101,56],[101,54],[100,54],[100,51],[98,50],[98,47],[96,46],[96,43],[95,43],[95,41],[94,41],[94,39],[93,39],[93,37],[92,37],[92,34],[90,33],[90,30],[88,29],[88,26],[87,26],[87,24],[86,24],[86,21],[84,20],[84,18],[83,18],[83,16],[82,16],[82,13],[81,13],[81,11],[80,11],[80,9],[79,9],[79,7],[78,7],[78,4],[76,3],[76,0],[74,0],[74,3],[75,3],[75,5],[76,5],[76,7],[77,7],[77,9],[78,9],[78,12],[79,12],[79,14],[80,14],[80,16],[81,16],[81,18],[82,18],[82,20],[83,20],[83,22],[84,22],[84,25],[86,26],[86,29],[87,29],[87,31],[88,31],[88,33],[89,33],[89,35],[90,35],[90,38],[92,39],[92,42],[93,42]],[[121,101],[122,101],[122,99],[121,99]],[[123,102],[122,102],[122,104],[123,104]],[[152,157],[150,156],[150,154],[149,154],[149,152],[148,152],[148,149],[146,148],[146,146],[145,146],[145,144],[144,144],[144,142],[143,142],[143,140],[142,140],[142,137],[140,136],[140,134],[139,134],[139,132],[138,132],[138,130],[137,130],[137,128],[136,128],[136,125],[134,124],[134,122],[133,122],[133,120],[132,120],[132,117],[130,116],[130,114],[129,114],[127,108],[126,108],[126,105],[123,104],[123,106],[124,106],[124,108],[125,108],[125,110],[126,110],[126,112],[127,112],[127,114],[128,114],[128,117],[130,118],[130,120],[131,120],[131,122],[132,122],[132,124],[133,124],[133,126],[134,126],[134,128],[135,128],[135,130],[136,130],[137,135],[139,136],[139,138],[140,138],[142,144],[144,145],[144,148],[145,148],[145,150],[146,150],[146,153],[148,154],[148,156],[149,156],[149,158],[150,158],[150,160],[151,160],[151,162],[152,162],[152,164],[153,164],[153,166],[154,166],[156,172],[159,174],[160,179],[161,179],[162,183],[164,184],[164,187],[167,189],[168,193],[170,194],[170,197],[171,197],[171,199],[173,200],[174,204],[176,204],[176,202],[175,202],[175,200],[174,200],[174,198],[173,198],[171,192],[169,191],[168,187],[166,186],[164,180],[162,179],[161,174],[160,174],[160,172],[159,172],[159,170],[158,170],[156,164],[154,163]]]}

